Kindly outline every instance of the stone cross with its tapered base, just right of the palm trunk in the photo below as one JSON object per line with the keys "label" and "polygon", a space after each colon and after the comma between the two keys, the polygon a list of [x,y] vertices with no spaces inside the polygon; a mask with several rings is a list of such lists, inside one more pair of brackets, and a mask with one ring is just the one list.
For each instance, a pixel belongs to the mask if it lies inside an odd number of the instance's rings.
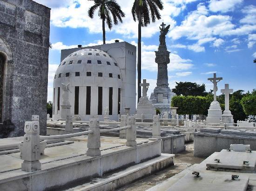
{"label": "stone cross with its tapered base, just right of the palm trunk", "polygon": [[143,83],[141,83],[140,86],[142,86],[142,97],[138,103],[136,118],[141,118],[143,114],[145,119],[153,119],[153,115],[156,114],[156,111],[152,102],[148,100],[147,91],[149,83],[147,83],[146,79],[143,79]]}

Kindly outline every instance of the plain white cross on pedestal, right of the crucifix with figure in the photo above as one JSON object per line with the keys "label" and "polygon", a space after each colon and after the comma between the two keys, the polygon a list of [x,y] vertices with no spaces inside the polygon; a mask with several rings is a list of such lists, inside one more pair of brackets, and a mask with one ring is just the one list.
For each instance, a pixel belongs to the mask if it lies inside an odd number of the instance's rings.
{"label": "plain white cross on pedestal, right of the crucifix with figure", "polygon": [[229,110],[229,93],[233,93],[233,89],[229,89],[229,84],[225,84],[225,89],[221,89],[221,93],[225,94],[225,110],[222,115],[222,123],[227,126],[233,126],[234,119],[231,111]]}

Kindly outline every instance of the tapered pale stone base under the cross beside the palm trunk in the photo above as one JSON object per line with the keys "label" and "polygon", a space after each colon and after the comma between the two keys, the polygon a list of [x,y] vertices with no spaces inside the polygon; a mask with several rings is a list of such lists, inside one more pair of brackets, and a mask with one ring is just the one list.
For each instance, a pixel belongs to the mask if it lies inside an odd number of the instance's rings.
{"label": "tapered pale stone base under the cross beside the palm trunk", "polygon": [[147,96],[141,97],[138,103],[136,118],[141,118],[143,114],[144,119],[153,119],[153,115],[156,114],[154,105]]}

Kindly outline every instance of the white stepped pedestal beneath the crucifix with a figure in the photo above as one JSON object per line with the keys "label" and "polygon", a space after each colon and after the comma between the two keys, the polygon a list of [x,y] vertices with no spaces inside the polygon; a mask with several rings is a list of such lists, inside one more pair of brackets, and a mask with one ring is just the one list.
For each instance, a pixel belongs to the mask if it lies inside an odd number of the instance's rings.
{"label": "white stepped pedestal beneath the crucifix with a figure", "polygon": [[207,123],[220,123],[222,120],[222,109],[220,103],[217,101],[211,102],[208,109],[208,116],[206,117]]}

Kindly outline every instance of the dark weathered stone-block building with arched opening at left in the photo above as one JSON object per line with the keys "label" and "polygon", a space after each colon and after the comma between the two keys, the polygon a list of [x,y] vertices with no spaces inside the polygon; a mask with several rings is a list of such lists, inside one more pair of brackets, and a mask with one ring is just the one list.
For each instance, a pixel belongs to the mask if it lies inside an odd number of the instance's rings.
{"label": "dark weathered stone-block building with arched opening at left", "polygon": [[33,0],[0,0],[0,138],[24,134],[40,115],[46,134],[50,8]]}

